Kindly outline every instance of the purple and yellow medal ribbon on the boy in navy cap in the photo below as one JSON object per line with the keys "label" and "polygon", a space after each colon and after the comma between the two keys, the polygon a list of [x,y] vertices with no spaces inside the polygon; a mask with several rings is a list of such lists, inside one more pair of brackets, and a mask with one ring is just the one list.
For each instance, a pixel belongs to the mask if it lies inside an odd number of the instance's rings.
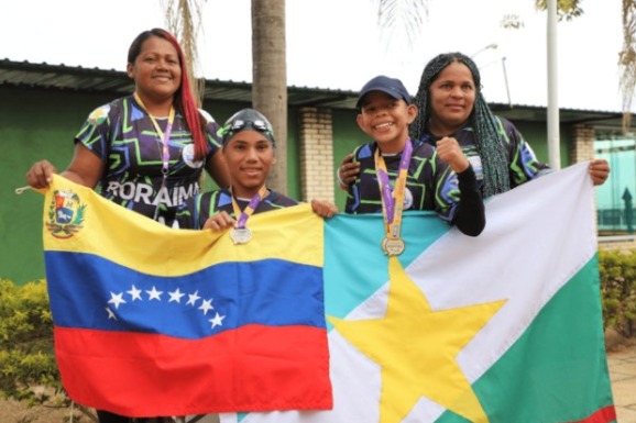
{"label": "purple and yellow medal ribbon on the boy in navy cap", "polygon": [[382,197],[382,214],[384,215],[386,237],[392,240],[399,238],[404,196],[406,193],[406,175],[412,154],[413,144],[410,140],[407,140],[399,158],[399,170],[395,179],[395,188],[392,189],[384,157],[380,154],[380,148],[375,149],[375,174],[377,175],[377,185]]}

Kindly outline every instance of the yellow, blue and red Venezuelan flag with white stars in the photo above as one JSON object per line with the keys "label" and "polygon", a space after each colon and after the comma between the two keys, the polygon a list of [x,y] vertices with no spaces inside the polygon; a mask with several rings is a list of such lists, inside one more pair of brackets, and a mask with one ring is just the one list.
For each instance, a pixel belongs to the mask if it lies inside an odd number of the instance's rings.
{"label": "yellow, blue and red Venezuelan flag with white stars", "polygon": [[128,416],[332,407],[322,220],[257,214],[253,237],[165,227],[55,176],[44,254],[64,388]]}

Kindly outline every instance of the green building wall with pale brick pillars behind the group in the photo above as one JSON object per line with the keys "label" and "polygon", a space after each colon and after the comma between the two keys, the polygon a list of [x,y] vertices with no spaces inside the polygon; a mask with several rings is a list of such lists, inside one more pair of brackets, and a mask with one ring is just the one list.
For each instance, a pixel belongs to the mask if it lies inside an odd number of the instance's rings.
{"label": "green building wall with pale brick pillars behind the group", "polygon": [[[57,169],[66,168],[73,155],[73,138],[88,113],[113,96],[69,91],[0,87],[0,278],[18,283],[44,278],[42,254],[42,197],[33,191],[18,196],[31,165],[46,158]],[[239,102],[209,102],[204,109],[222,124],[239,109]],[[336,171],[342,158],[368,142],[355,123],[355,110],[289,108],[287,163],[289,197],[333,201],[343,210],[346,193],[338,188]],[[505,115],[505,114],[502,114]],[[547,162],[545,124],[515,122],[542,162]],[[561,164],[590,157],[593,129],[561,127]],[[592,137],[592,138],[590,138]],[[204,190],[216,188],[207,178]],[[633,248],[632,241],[608,243]]]}

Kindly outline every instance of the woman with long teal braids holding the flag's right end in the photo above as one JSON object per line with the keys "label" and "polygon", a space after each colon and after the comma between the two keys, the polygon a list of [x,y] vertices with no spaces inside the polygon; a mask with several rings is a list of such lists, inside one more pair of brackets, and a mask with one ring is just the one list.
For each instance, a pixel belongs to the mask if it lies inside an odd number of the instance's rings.
{"label": "woman with long teal braids holding the flag's right end", "polygon": [[[419,113],[409,129],[413,140],[436,145],[456,138],[476,174],[485,197],[505,192],[550,171],[540,163],[508,120],[493,115],[481,91],[474,62],[461,53],[445,53],[425,67],[414,103]],[[341,186],[352,183],[358,164],[347,156],[339,169]],[[590,163],[594,185],[610,174],[603,159]]]}

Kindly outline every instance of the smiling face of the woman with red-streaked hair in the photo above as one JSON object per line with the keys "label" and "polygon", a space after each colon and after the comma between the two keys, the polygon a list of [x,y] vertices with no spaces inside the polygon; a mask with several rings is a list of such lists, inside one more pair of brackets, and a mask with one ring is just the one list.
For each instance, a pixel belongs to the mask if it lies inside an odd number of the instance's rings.
{"label": "smiling face of the woman with red-streaked hair", "polygon": [[153,104],[172,103],[182,84],[182,66],[175,47],[160,36],[147,37],[127,73],[149,110]]}

